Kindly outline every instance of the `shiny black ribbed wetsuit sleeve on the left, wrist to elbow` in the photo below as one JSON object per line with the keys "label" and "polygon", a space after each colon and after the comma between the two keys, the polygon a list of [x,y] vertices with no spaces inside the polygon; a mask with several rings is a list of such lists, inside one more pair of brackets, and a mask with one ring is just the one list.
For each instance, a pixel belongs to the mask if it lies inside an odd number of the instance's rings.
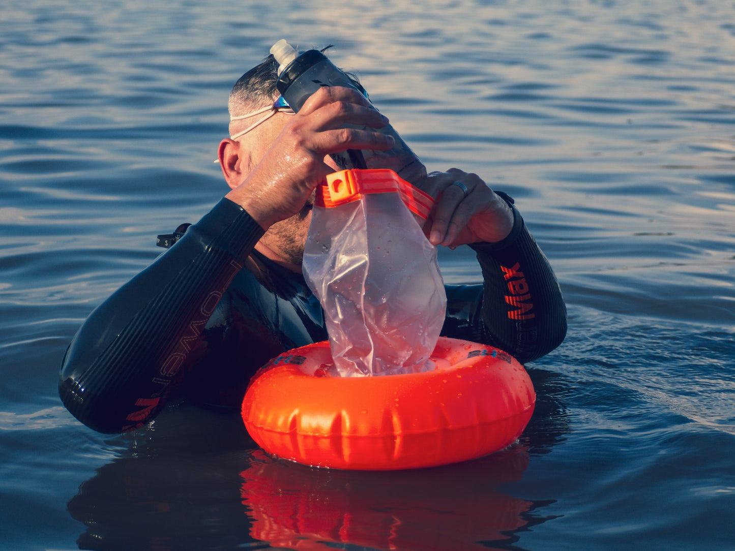
{"label": "shiny black ribbed wetsuit sleeve on the left, wrist to elbow", "polygon": [[178,386],[204,325],[262,234],[247,212],[222,199],[98,306],[62,360],[59,392],[71,414],[104,433],[152,419]]}

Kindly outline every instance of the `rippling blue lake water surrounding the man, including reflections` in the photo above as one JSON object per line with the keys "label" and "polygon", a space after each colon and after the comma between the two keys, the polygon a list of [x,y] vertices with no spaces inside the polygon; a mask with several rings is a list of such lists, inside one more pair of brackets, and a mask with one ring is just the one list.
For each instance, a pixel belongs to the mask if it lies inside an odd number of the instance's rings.
{"label": "rippling blue lake water surrounding the man, including reflections", "polygon": [[[735,550],[735,3],[298,4],[4,2],[0,548]],[[224,194],[229,88],[282,37],[337,46],[429,169],[509,192],[551,260],[569,334],[528,364],[509,450],[329,472],[237,414],[104,436],[60,405],[82,320]],[[440,258],[478,281],[471,251]]]}

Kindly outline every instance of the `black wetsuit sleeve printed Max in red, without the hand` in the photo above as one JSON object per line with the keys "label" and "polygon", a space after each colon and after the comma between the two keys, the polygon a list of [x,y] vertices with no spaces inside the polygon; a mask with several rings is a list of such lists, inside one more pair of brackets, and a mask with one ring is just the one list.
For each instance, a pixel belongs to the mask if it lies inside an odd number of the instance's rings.
{"label": "black wetsuit sleeve printed Max in red, without the hand", "polygon": [[477,286],[448,288],[444,333],[496,346],[526,363],[564,340],[567,310],[551,265],[528,232],[512,198],[514,225],[498,243],[474,243],[483,276]]}

